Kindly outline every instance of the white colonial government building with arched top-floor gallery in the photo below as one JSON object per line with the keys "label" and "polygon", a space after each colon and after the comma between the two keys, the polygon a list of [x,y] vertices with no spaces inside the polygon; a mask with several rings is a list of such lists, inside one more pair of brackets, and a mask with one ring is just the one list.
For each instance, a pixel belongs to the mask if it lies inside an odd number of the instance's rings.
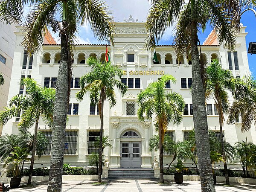
{"label": "white colonial government building with arched top-floor gallery", "polygon": [[[159,63],[153,63],[153,52],[145,49],[145,39],[148,32],[145,23],[140,23],[130,17],[123,22],[114,23],[116,26],[115,45],[108,45],[111,52],[113,65],[123,70],[122,82],[127,84],[128,91],[124,97],[116,88],[117,104],[110,108],[108,102],[104,108],[104,135],[112,140],[113,148],[104,150],[108,156],[110,167],[146,167],[151,168],[154,155],[158,153],[148,150],[149,140],[156,134],[152,126],[152,119],[140,122],[136,112],[137,93],[147,87],[151,81],[164,74],[173,75],[177,79],[176,84],[166,84],[166,91],[175,91],[184,97],[186,107],[184,109],[183,122],[179,126],[169,125],[168,134],[175,141],[183,141],[193,129],[193,106],[190,93],[191,57],[184,55],[180,65],[177,65],[174,47],[172,45],[159,45],[156,47]],[[230,69],[234,76],[249,74],[247,50],[245,44],[244,26],[237,35],[236,51],[228,52],[223,45],[218,44],[215,32],[212,31],[207,40],[201,46],[202,53],[208,64],[211,59],[218,58],[224,68]],[[20,78],[32,77],[44,87],[55,87],[58,67],[60,63],[60,45],[49,38],[46,39],[41,51],[34,53],[30,62],[26,51],[20,45],[24,37],[23,27],[16,27],[16,48],[13,59],[12,77],[8,100],[16,94],[26,94],[26,87],[19,85]],[[97,106],[90,104],[89,95],[84,96],[82,102],[78,102],[75,94],[79,91],[79,78],[90,71],[86,64],[90,56],[104,60],[105,45],[102,44],[79,44],[74,49],[73,79],[71,82],[71,96],[69,105],[69,122],[66,127],[66,141],[64,150],[64,163],[72,166],[86,166],[88,156],[97,152],[93,142],[99,136],[100,118]],[[218,114],[213,99],[207,101],[207,116],[209,129],[215,131],[215,136],[220,137]],[[227,119],[227,118],[226,118]],[[3,127],[3,134],[17,134],[19,118],[13,118]],[[241,133],[240,123],[227,125],[224,123],[224,140],[235,144],[238,141],[247,140],[256,143],[256,130],[253,126],[250,132]],[[40,160],[36,160],[35,166],[49,166],[51,153],[52,131],[39,122],[39,130],[44,132],[49,140],[48,148]],[[31,129],[33,131],[33,128]],[[164,162],[169,163],[172,155],[165,154]],[[166,164],[164,164],[166,166]],[[187,166],[194,164],[187,162]]]}

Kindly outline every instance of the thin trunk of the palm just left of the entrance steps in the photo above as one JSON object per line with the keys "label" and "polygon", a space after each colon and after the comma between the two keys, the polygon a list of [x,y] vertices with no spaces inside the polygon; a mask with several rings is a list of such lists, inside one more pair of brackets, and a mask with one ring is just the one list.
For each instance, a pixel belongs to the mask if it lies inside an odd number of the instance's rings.
{"label": "thin trunk of the palm just left of the entrance steps", "polygon": [[99,183],[101,183],[101,175],[102,175],[103,107],[104,107],[104,100],[105,100],[104,93],[105,93],[105,90],[101,90],[101,93],[100,93],[101,110],[100,110],[100,135],[99,135],[99,174],[98,174],[98,182]]}

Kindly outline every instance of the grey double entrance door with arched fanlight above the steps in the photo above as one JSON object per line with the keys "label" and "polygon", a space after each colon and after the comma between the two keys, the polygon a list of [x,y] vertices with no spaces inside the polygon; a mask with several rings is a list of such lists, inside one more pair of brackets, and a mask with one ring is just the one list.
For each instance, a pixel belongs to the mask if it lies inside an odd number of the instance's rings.
{"label": "grey double entrance door with arched fanlight above the steps", "polygon": [[121,167],[141,166],[141,137],[135,131],[125,131],[121,135],[120,165]]}

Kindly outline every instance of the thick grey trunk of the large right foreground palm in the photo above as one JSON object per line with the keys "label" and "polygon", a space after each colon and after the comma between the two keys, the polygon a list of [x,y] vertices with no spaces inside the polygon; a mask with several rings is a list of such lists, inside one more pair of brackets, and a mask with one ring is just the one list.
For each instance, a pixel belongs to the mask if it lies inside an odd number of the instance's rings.
{"label": "thick grey trunk of the large right foreground palm", "polygon": [[[191,1],[192,2],[192,1]],[[195,127],[196,147],[202,192],[215,192],[212,166],[210,160],[207,113],[205,109],[204,87],[199,64],[197,23],[191,22],[191,56],[192,56],[192,103]]]}

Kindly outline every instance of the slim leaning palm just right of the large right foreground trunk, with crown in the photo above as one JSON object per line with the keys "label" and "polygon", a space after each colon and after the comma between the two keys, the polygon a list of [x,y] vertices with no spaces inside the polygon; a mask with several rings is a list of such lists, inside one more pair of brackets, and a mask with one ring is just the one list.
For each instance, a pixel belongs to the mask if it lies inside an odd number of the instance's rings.
{"label": "slim leaning palm just right of the large right foreground trunk, with crown", "polygon": [[213,60],[210,66],[207,67],[207,79],[208,81],[207,81],[205,94],[207,99],[209,97],[213,97],[217,106],[220,134],[221,134],[221,137],[220,137],[221,146],[222,146],[221,154],[222,154],[223,163],[224,163],[226,184],[229,185],[222,125],[225,120],[224,113],[226,113],[229,108],[228,91],[234,92],[236,87],[236,84],[235,84],[236,79],[234,79],[233,74],[230,70],[222,69],[221,64],[216,59]]}

